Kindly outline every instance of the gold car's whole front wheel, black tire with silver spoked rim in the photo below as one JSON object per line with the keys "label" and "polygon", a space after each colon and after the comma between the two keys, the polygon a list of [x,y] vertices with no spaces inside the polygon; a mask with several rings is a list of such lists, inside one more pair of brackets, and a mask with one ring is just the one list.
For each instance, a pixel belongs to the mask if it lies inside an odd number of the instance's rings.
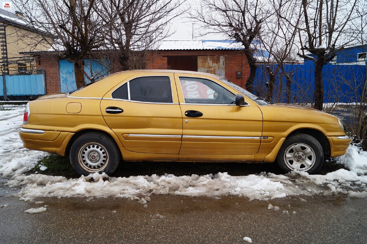
{"label": "gold car's whole front wheel, black tire with silver spoked rim", "polygon": [[280,169],[286,173],[297,169],[315,174],[324,162],[324,151],[315,137],[302,133],[294,134],[286,138],[279,149],[276,161]]}

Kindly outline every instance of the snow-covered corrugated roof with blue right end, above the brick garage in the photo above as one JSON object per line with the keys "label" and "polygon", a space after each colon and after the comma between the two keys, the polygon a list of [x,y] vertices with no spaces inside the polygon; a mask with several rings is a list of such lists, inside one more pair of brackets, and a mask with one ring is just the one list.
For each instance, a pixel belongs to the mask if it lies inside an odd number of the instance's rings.
{"label": "snow-covered corrugated roof with blue right end, above the brick garage", "polygon": [[230,40],[166,40],[162,41],[158,50],[239,50],[240,42]]}

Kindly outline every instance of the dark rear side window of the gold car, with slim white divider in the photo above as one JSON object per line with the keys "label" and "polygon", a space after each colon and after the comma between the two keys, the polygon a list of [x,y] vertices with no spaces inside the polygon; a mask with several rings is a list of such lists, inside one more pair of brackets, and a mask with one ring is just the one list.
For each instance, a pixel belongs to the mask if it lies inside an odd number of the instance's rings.
{"label": "dark rear side window of the gold car, with slim white divider", "polygon": [[112,98],[150,103],[172,103],[170,77],[138,77],[126,82],[114,92]]}

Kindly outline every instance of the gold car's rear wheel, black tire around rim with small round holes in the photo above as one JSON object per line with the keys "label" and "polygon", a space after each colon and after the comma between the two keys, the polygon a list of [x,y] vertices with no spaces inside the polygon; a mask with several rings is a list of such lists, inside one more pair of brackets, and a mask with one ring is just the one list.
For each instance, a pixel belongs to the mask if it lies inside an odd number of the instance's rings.
{"label": "gold car's rear wheel, black tire around rim with small round holes", "polygon": [[115,141],[100,132],[88,132],[78,137],[70,148],[70,163],[80,175],[95,172],[112,174],[120,161]]}

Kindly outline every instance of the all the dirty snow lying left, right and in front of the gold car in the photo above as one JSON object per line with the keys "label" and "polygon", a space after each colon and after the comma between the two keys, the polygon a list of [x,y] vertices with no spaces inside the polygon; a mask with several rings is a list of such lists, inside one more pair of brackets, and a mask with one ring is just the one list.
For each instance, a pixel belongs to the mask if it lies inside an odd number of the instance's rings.
{"label": "all the dirty snow lying left, right and in front of the gold car", "polygon": [[24,175],[23,173],[39,165],[39,159],[48,153],[23,148],[18,130],[22,124],[24,106],[6,107],[12,110],[0,111],[0,175],[9,177],[9,187],[21,188],[15,195],[24,201],[45,196],[86,196],[90,197],[88,199],[115,196],[130,197],[145,207],[148,206],[150,195],[167,194],[210,196],[215,199],[222,195],[236,195],[251,200],[269,200],[291,195],[344,194],[350,197],[367,197],[367,152],[359,151],[356,146],[350,146],[347,154],[337,159],[337,163],[345,165],[349,170],[339,169],[326,175],[300,172],[276,175],[262,172],[232,176],[219,172],[208,175],[109,177],[105,173],[95,173],[76,179],[43,174]]}

